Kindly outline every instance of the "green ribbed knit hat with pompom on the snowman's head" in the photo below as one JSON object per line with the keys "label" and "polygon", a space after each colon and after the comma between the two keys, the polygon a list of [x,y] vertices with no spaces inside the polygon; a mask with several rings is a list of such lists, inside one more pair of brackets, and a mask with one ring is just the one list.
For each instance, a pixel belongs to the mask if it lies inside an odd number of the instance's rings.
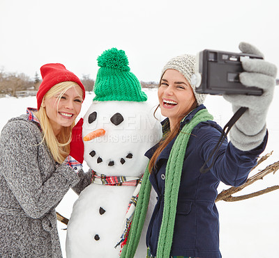
{"label": "green ribbed knit hat with pompom on the snowman's head", "polygon": [[147,96],[142,91],[140,81],[133,72],[130,72],[125,51],[108,49],[97,61],[100,68],[94,86],[96,97],[93,101],[146,101]]}

